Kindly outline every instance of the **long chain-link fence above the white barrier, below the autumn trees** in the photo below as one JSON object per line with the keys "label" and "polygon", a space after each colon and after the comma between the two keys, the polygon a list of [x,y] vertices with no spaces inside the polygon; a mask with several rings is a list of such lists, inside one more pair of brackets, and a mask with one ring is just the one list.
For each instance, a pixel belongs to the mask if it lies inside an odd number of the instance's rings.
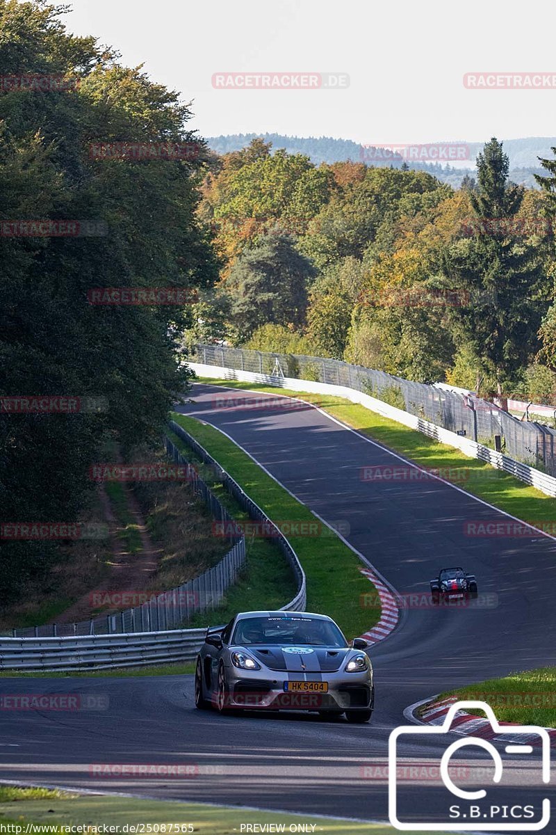
{"label": "long chain-link fence above the white barrier, below the autumn trees", "polygon": [[539,423],[520,421],[480,397],[323,357],[198,345],[191,360],[276,377],[347,386],[451,432],[465,435],[484,446],[498,448],[510,458],[530,467],[542,468],[556,475],[556,431]]}

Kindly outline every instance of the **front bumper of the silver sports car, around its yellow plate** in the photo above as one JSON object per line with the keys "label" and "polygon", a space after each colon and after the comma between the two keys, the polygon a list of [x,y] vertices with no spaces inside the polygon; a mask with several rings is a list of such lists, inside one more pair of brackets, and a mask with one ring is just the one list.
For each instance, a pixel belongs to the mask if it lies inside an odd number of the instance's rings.
{"label": "front bumper of the silver sports car, around its yellow plate", "polygon": [[[244,671],[226,668],[227,706],[245,710],[353,711],[373,707],[371,671],[346,673],[292,673],[262,669]],[[284,684],[307,681],[328,683],[328,692],[285,691]]]}

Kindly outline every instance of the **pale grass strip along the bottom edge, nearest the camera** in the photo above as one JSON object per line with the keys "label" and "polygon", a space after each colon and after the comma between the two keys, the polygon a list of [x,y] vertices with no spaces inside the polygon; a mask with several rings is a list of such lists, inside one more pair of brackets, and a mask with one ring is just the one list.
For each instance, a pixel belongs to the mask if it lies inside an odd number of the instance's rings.
{"label": "pale grass strip along the bottom edge, nearest the camera", "polygon": [[[135,797],[82,796],[49,792],[41,795],[40,789],[13,790],[9,795],[0,788],[0,833],[18,832],[8,829],[8,824],[18,823],[25,832],[27,822],[48,827],[88,825],[93,835],[95,826],[128,824],[174,824],[173,832],[197,832],[198,835],[233,835],[240,832],[241,824],[282,824],[289,831],[290,824],[313,823],[316,835],[393,835],[397,830],[383,824],[358,823],[334,820],[308,814],[280,812],[253,812],[230,807],[211,807],[201,803],[139,800]],[[18,795],[18,792],[22,792]],[[278,798],[279,801],[279,798]],[[188,828],[191,824],[191,828]],[[179,829],[178,829],[179,827]],[[58,830],[61,832],[61,830]],[[152,829],[150,830],[153,831]],[[158,830],[159,831],[159,830]],[[245,831],[245,830],[243,830]],[[260,830],[259,830],[260,831]],[[53,829],[46,829],[55,835]],[[148,832],[145,828],[144,832]],[[168,830],[167,830],[168,832]],[[415,833],[413,833],[415,835]]]}

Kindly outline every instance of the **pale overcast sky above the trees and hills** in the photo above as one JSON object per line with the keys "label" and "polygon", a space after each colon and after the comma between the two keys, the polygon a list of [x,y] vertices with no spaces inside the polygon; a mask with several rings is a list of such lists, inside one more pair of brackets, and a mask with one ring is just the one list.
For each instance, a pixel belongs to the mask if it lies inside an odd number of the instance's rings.
{"label": "pale overcast sky above the trees and hills", "polygon": [[[201,134],[363,144],[556,134],[556,89],[474,90],[464,73],[544,72],[548,0],[73,0],[68,28],[193,101]],[[213,73],[348,73],[347,89],[214,89]]]}

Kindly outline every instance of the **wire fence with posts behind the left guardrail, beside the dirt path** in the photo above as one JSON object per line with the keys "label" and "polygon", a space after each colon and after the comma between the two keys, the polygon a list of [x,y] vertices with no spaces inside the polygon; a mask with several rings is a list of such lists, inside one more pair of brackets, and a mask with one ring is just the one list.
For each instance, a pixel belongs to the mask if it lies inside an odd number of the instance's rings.
{"label": "wire fence with posts behind the left guardrail, beside the dirt path", "polygon": [[[164,446],[169,458],[187,469],[186,478],[193,487],[193,492],[203,498],[208,505],[214,519],[220,522],[233,523],[233,518],[218,501],[218,498],[198,475],[192,463],[183,458],[182,453],[174,446],[169,438],[164,438]],[[223,530],[233,532],[233,524],[223,525]],[[245,538],[237,533],[228,535],[233,547],[213,568],[188,580],[175,589],[160,594],[148,591],[133,592],[134,598],[144,602],[118,612],[115,615],[98,615],[89,620],[81,620],[73,624],[45,624],[28,626],[12,630],[14,638],[54,637],[63,635],[113,635],[124,632],[159,632],[177,629],[187,625],[192,615],[207,612],[218,606],[228,587],[233,584],[238,572],[245,564]],[[100,593],[99,602],[102,604],[103,595]],[[118,595],[108,595],[111,600]],[[121,595],[125,600],[125,593]]]}

